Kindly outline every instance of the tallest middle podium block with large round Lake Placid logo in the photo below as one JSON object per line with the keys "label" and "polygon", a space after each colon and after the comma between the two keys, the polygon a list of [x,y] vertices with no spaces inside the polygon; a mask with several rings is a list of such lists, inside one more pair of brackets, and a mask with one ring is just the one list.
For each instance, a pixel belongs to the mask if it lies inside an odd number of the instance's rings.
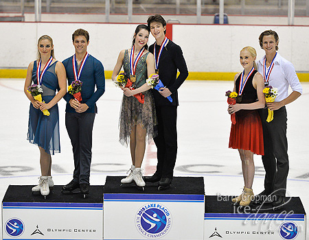
{"label": "tallest middle podium block with large round Lake Placid logo", "polygon": [[108,176],[104,185],[104,239],[203,239],[203,178],[174,177],[164,191],[120,187],[121,179]]}

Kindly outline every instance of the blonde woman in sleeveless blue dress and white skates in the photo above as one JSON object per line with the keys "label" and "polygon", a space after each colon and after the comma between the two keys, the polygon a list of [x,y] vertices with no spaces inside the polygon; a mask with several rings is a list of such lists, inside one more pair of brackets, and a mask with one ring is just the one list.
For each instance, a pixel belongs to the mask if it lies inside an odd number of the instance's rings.
{"label": "blonde woman in sleeveless blue dress and white skates", "polygon": [[[43,102],[39,102],[27,88],[32,84],[43,89]],[[56,91],[58,90],[58,93]],[[30,100],[27,140],[40,150],[41,177],[34,192],[49,195],[49,188],[54,187],[52,180],[52,155],[60,152],[58,101],[67,93],[65,67],[54,56],[53,40],[43,35],[38,38],[38,58],[30,62],[25,79],[24,92]],[[50,115],[43,115],[48,110]]]}

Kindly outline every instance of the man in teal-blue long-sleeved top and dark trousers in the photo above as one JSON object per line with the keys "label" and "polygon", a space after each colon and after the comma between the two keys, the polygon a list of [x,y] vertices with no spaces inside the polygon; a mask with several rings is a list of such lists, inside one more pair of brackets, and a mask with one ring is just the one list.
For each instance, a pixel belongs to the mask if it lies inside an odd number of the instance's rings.
{"label": "man in teal-blue long-sleeved top and dark trousers", "polygon": [[[83,194],[89,193],[91,165],[92,130],[96,101],[105,91],[105,76],[102,63],[87,53],[89,34],[84,29],[77,29],[72,34],[75,54],[62,63],[67,71],[70,85],[74,80],[82,82],[82,101],[67,93],[65,125],[73,147],[74,172],[73,180],[62,187],[63,191],[73,191],[80,187]],[[97,90],[95,91],[95,86]]]}

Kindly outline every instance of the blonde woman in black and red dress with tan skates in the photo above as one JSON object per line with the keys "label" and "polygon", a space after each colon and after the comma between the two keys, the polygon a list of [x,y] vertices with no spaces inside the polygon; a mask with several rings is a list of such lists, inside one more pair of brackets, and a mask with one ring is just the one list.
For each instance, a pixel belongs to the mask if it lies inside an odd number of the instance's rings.
{"label": "blonde woman in black and red dress with tan skates", "polygon": [[233,203],[239,203],[240,206],[248,206],[254,197],[253,154],[264,154],[262,123],[257,110],[265,107],[264,80],[256,70],[255,59],[256,51],[253,47],[244,47],[240,51],[240,64],[244,71],[234,77],[233,91],[238,93],[238,97],[236,104],[228,108],[230,115],[236,113],[236,124],[231,125],[229,147],[238,149],[244,177],[242,193],[232,199]]}

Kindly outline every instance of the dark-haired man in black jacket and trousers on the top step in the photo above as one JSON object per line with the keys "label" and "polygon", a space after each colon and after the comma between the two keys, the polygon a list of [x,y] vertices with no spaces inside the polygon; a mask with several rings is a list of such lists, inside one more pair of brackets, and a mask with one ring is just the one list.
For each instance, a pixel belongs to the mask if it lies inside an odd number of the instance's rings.
{"label": "dark-haired man in black jacket and trousers on the top step", "polygon": [[[170,187],[173,178],[177,154],[176,117],[178,93],[177,89],[187,78],[187,65],[181,47],[165,37],[166,21],[159,14],[150,16],[148,27],[156,43],[149,47],[154,54],[156,71],[165,88],[153,90],[158,117],[158,136],[154,139],[157,146],[157,171],[153,176],[144,177],[146,182],[158,182],[159,189]],[[177,69],[180,74],[177,77]],[[172,97],[172,102],[168,100]]]}

